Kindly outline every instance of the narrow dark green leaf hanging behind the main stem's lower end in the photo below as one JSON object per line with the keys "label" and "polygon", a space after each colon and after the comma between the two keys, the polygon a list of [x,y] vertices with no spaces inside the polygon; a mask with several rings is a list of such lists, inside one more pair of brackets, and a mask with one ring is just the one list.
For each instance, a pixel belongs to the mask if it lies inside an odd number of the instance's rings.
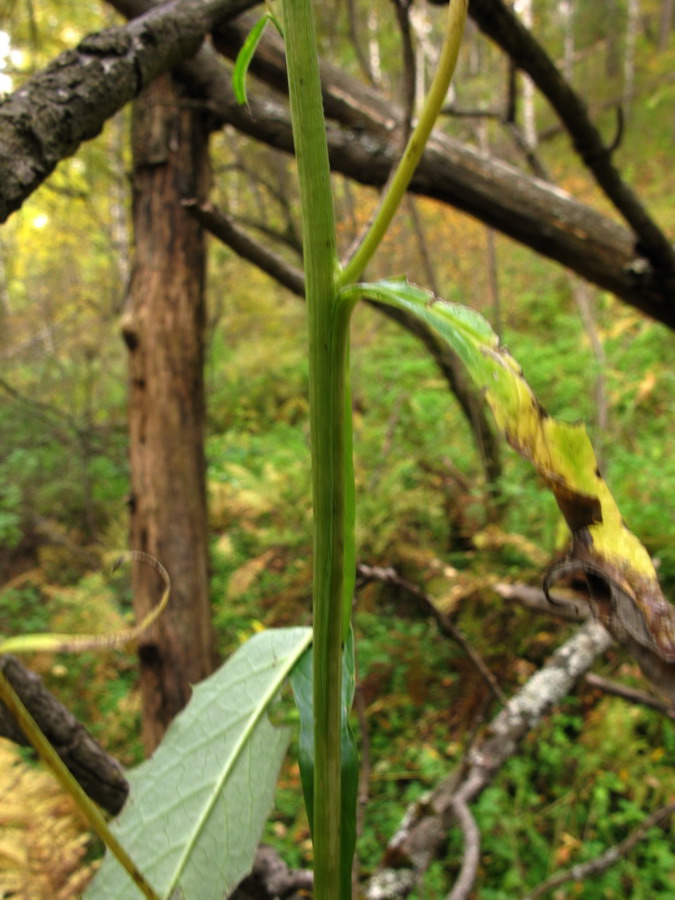
{"label": "narrow dark green leaf hanging behind the main stem's lower end", "polygon": [[[343,898],[351,897],[352,860],[356,848],[356,804],[359,755],[349,724],[354,702],[354,635],[350,629],[342,653],[342,708],[340,728],[340,880]],[[314,702],[312,650],[305,651],[291,673],[293,696],[300,713],[299,763],[309,826],[314,830]]]}

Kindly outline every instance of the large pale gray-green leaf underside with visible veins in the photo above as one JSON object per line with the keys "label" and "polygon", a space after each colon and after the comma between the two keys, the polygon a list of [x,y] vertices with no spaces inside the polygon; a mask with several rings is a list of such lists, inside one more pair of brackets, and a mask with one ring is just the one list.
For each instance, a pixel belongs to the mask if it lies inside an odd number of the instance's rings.
{"label": "large pale gray-green leaf underside with visible veins", "polygon": [[[253,637],[130,773],[113,830],[162,900],[222,900],[250,870],[288,743],[266,710],[311,639],[309,628]],[[141,896],[110,853],[85,895]]]}

